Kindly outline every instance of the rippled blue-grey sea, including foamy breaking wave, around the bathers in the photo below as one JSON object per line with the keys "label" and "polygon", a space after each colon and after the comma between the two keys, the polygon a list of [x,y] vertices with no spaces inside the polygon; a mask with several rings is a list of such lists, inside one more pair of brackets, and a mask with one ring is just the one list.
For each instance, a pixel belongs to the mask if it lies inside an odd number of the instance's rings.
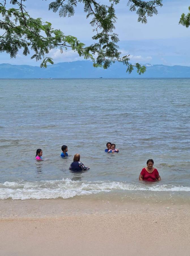
{"label": "rippled blue-grey sea, including foamy breaking wave, around the bathers", "polygon": [[[190,195],[190,79],[0,79],[0,199]],[[105,153],[110,141],[119,153]],[[60,158],[61,146],[68,158]],[[43,161],[35,160],[37,148]],[[90,169],[72,172],[74,154]],[[138,176],[152,158],[160,182]]]}

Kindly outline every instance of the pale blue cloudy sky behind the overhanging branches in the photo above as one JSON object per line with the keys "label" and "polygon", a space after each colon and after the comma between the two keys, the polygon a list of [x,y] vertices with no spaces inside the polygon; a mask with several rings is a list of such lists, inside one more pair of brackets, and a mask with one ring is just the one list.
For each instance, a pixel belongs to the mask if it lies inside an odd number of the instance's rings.
{"label": "pale blue cloudy sky behind the overhanging branches", "polygon": [[[76,36],[86,46],[91,44],[93,28],[89,24],[90,19],[86,19],[83,5],[78,5],[74,16],[63,18],[58,13],[48,11],[48,4],[52,1],[27,0],[24,4],[33,18],[41,17],[44,22],[51,22],[53,28],[60,29],[65,35]],[[106,0],[103,1],[106,3]],[[122,55],[130,54],[131,63],[190,66],[190,28],[178,24],[182,13],[188,13],[189,0],[163,0],[163,7],[158,8],[158,15],[149,17],[147,24],[137,22],[138,16],[129,11],[127,2],[121,0],[115,6],[118,19],[114,32],[119,36],[118,45]],[[71,50],[61,54],[59,49],[54,49],[49,56],[54,63],[83,60]],[[22,51],[19,51],[16,59],[11,59],[7,53],[0,53],[0,63],[40,65],[40,61],[22,55]]]}

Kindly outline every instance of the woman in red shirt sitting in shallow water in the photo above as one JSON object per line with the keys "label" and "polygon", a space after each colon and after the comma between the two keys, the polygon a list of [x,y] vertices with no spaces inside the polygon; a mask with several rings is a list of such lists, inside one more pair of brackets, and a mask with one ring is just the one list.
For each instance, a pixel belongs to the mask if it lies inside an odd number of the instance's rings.
{"label": "woman in red shirt sitting in shallow water", "polygon": [[143,168],[140,175],[139,180],[148,180],[148,181],[155,181],[161,180],[159,173],[156,168],[153,168],[154,161],[152,159],[148,159],[146,162],[147,167]]}

